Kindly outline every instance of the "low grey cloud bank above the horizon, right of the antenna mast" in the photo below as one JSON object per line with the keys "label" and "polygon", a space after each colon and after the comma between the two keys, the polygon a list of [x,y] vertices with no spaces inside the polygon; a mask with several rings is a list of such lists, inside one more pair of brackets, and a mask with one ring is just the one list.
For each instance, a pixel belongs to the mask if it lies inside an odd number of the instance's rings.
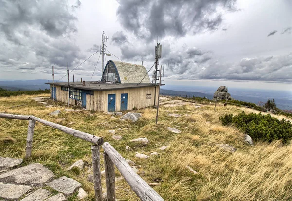
{"label": "low grey cloud bank above the horizon, right of the antenna mast", "polygon": [[170,54],[164,61],[166,64],[165,76],[171,79],[292,82],[290,76],[292,74],[292,53],[281,56],[243,58],[235,63],[224,63],[213,59],[210,55],[206,56],[209,59],[204,60],[201,56],[188,58],[183,52]]}

